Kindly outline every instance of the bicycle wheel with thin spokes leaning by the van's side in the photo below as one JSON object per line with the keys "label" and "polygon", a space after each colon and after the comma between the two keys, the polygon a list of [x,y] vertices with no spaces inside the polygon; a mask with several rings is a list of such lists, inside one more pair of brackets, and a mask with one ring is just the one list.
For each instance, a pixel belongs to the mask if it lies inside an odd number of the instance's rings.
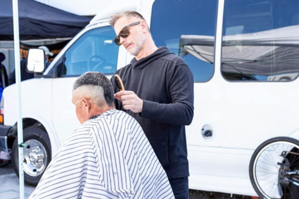
{"label": "bicycle wheel with thin spokes leaning by the van's side", "polygon": [[299,173],[285,173],[291,171],[299,172],[299,141],[291,137],[263,142],[249,164],[250,181],[260,199],[298,199]]}

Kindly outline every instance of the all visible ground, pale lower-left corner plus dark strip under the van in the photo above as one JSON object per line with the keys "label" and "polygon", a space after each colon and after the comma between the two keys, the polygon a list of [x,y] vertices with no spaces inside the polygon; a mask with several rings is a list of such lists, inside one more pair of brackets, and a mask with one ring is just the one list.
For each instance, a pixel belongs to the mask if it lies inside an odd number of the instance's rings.
{"label": "all visible ground, pale lower-left corner plus dark strip under the van", "polygon": [[[28,199],[35,187],[25,185],[24,199]],[[251,199],[251,197],[190,190],[190,199]],[[19,179],[11,163],[0,167],[0,199],[19,199]]]}

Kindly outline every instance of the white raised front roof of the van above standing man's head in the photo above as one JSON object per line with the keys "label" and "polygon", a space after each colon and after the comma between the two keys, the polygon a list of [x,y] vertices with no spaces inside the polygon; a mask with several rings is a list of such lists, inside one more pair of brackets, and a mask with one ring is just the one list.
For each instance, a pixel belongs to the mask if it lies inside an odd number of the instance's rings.
{"label": "white raised front roof of the van above standing man's head", "polygon": [[113,14],[119,12],[128,10],[138,11],[140,2],[141,0],[126,0],[126,4],[124,4],[123,0],[113,0],[113,2],[107,3],[100,8],[100,12],[90,20],[89,25],[94,25],[104,19],[109,19]]}

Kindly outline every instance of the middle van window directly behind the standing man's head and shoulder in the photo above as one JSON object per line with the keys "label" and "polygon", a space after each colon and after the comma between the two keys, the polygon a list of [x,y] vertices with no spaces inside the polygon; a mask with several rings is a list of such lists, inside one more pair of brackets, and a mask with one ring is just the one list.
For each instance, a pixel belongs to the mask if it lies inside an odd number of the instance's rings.
{"label": "middle van window directly behind the standing man's head and shoulder", "polygon": [[[207,82],[214,73],[216,6],[216,0],[155,0],[152,6],[155,44],[182,57],[195,82]],[[204,52],[197,51],[198,43]]]}

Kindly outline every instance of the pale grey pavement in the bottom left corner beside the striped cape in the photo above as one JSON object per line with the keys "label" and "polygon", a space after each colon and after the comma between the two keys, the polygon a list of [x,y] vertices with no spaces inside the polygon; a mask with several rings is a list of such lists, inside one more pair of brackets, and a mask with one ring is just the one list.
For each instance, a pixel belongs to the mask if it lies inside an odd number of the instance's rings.
{"label": "pale grey pavement in the bottom left corner beside the striped cape", "polygon": [[[28,199],[35,187],[25,185],[24,199]],[[0,167],[0,199],[19,199],[19,179],[11,164]]]}

